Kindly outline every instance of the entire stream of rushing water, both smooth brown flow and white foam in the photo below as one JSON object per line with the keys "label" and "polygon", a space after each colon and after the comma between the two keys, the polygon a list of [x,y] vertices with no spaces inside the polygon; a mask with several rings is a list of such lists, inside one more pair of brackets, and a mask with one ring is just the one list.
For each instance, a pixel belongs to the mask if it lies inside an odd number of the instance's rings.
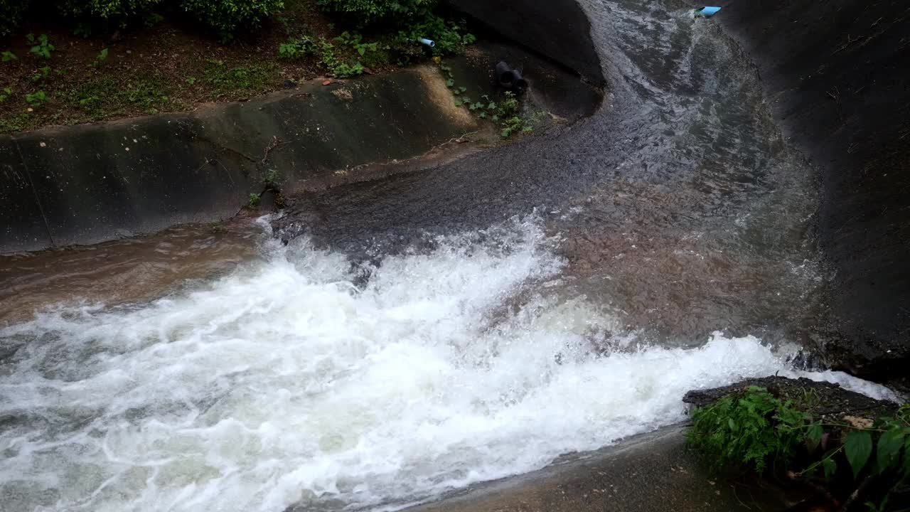
{"label": "entire stream of rushing water, both smooth brown flow and white foam", "polygon": [[404,507],[677,422],[697,387],[889,396],[788,363],[824,278],[811,174],[669,4],[583,2],[593,118],[334,190],[288,246],[240,223],[0,260],[0,511]]}

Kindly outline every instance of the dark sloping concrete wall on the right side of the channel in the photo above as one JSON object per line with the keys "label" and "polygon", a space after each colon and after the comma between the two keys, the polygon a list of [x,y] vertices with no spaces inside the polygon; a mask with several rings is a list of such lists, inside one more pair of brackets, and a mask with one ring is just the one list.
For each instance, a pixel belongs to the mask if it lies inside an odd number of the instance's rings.
{"label": "dark sloping concrete wall on the right side of the channel", "polygon": [[910,355],[910,3],[727,0],[784,135],[821,169],[832,362],[878,379]]}

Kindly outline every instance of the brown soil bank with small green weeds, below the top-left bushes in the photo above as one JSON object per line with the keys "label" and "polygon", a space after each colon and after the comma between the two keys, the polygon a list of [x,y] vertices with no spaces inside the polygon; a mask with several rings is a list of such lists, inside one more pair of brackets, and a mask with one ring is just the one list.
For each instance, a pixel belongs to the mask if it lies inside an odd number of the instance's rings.
{"label": "brown soil bank with small green weeds, below the top-left bushes", "polygon": [[413,37],[421,29],[449,42],[437,53],[472,41],[460,23],[423,19],[436,25],[357,29],[317,0],[292,0],[229,44],[162,15],[89,37],[60,22],[25,22],[0,40],[0,133],[186,111],[319,77],[388,72],[430,56]]}

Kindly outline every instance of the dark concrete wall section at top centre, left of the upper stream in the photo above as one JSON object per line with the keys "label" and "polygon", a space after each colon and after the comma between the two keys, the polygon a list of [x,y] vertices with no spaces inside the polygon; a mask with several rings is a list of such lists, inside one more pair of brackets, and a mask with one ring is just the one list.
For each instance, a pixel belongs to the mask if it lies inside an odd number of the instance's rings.
{"label": "dark concrete wall section at top centre, left of the upper stream", "polygon": [[591,23],[575,0],[447,0],[501,36],[571,67],[596,87],[605,83]]}

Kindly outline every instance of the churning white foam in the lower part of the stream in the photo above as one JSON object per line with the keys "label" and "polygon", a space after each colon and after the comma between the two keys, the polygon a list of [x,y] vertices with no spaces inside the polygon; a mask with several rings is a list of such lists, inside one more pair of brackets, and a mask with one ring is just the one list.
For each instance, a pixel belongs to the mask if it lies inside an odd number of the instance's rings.
{"label": "churning white foam in the lower part of the stream", "polygon": [[206,289],[0,331],[31,340],[0,374],[0,416],[29,416],[0,435],[0,509],[419,499],[679,421],[693,387],[788,372],[720,334],[597,355],[612,316],[548,292],[562,262],[534,221],[439,242],[362,290],[304,241]]}

